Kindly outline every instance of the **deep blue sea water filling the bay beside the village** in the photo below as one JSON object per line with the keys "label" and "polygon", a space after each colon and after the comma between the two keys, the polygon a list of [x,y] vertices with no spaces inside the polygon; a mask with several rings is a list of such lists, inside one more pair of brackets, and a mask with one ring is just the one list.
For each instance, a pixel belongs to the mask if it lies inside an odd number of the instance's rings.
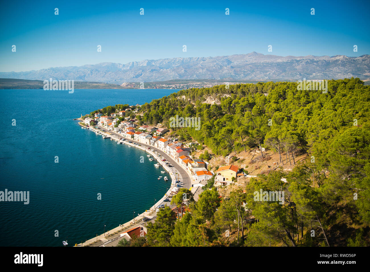
{"label": "deep blue sea water filling the bay beside the village", "polygon": [[149,209],[169,175],[158,181],[161,169],[145,151],[81,129],[73,118],[176,91],[0,90],[0,191],[30,192],[28,205],[0,202],[0,246],[74,245]]}

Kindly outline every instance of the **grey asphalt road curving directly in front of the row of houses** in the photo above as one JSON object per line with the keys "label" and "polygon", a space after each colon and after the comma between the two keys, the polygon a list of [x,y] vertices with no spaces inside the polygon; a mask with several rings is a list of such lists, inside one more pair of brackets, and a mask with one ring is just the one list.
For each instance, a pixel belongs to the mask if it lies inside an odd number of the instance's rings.
{"label": "grey asphalt road curving directly in front of the row of houses", "polygon": [[169,157],[169,155],[166,152],[164,152],[164,151],[162,151],[162,150],[160,150],[160,149],[158,149],[158,148],[156,148],[156,147],[154,147],[152,145],[145,145],[145,144],[142,144],[141,142],[138,142],[138,141],[134,141],[132,139],[125,138],[123,135],[118,134],[118,133],[113,132],[113,131],[110,131],[110,130],[107,130],[106,128],[103,128],[101,126],[98,126],[98,128],[100,128],[101,130],[103,130],[105,132],[110,132],[111,134],[117,136],[118,138],[124,138],[126,140],[129,140],[129,141],[132,141],[132,142],[136,142],[137,144],[140,144],[142,147],[145,147],[145,149],[148,149],[148,147],[149,147],[149,148],[152,148],[153,150],[157,151],[158,154],[161,155],[161,157],[163,157],[164,159],[166,159],[172,165],[172,167],[169,167],[171,169],[171,171],[174,172],[174,174],[175,173],[178,173],[178,174],[176,174],[176,177],[178,177],[179,178],[179,181],[182,182],[182,186],[183,186],[182,188],[186,188],[186,189],[190,189],[191,188],[191,178],[189,176],[189,173],[186,172],[185,169],[182,168],[178,164],[178,162],[176,162],[173,158]]}

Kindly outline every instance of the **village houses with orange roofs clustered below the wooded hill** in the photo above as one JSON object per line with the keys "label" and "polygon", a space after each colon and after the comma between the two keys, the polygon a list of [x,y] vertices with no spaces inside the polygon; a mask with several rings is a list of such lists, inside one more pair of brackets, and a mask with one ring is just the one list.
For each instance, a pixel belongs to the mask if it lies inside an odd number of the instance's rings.
{"label": "village houses with orange roofs clustered below the wooded hill", "polygon": [[[94,113],[94,118],[84,118],[84,124],[87,126],[97,125],[97,127],[115,132],[123,138],[164,151],[189,174],[192,188],[205,186],[213,176],[215,176],[213,184],[215,187],[226,186],[234,183],[238,177],[249,176],[232,164],[220,165],[216,172],[208,170],[209,162],[194,158],[191,155],[191,151],[194,150],[192,149],[194,143],[183,144],[177,138],[162,137],[168,130],[160,128],[161,124],[158,124],[158,127],[138,125],[136,124],[138,120],[125,117],[127,111],[131,111],[131,108],[112,113],[110,116],[102,115],[100,112]],[[137,109],[133,111],[136,112]],[[120,121],[118,117],[124,117],[123,120],[125,121]]]}

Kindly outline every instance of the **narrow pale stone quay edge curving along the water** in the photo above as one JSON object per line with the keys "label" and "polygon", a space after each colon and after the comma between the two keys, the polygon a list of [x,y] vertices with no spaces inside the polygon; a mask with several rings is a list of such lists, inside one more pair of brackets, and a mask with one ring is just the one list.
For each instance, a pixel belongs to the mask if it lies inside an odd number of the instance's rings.
{"label": "narrow pale stone quay edge curving along the water", "polygon": [[[75,119],[75,120],[81,120],[81,118],[77,118],[77,119]],[[82,120],[81,120],[82,121]],[[140,222],[143,224],[144,222],[141,220],[144,216],[149,216],[149,218],[150,217],[152,217],[151,215],[153,215],[153,214],[156,214],[157,212],[156,212],[156,207],[158,207],[159,205],[161,205],[162,203],[166,203],[166,202],[164,202],[164,200],[169,196],[169,195],[172,195],[171,193],[172,193],[172,189],[175,187],[175,182],[176,182],[176,175],[175,174],[177,174],[177,172],[176,173],[174,173],[168,166],[166,166],[166,164],[165,164],[165,162],[164,161],[162,161],[161,160],[161,158],[159,158],[158,157],[158,155],[156,155],[154,152],[154,147],[152,148],[151,147],[151,149],[153,150],[153,151],[151,151],[151,150],[148,150],[148,149],[146,149],[146,148],[144,148],[144,147],[142,147],[141,145],[139,146],[139,145],[135,145],[133,142],[136,142],[136,141],[134,141],[134,140],[132,140],[132,139],[129,139],[129,138],[126,138],[126,137],[124,137],[123,135],[121,135],[120,137],[122,138],[122,139],[125,139],[125,141],[122,141],[122,140],[120,140],[119,138],[118,138],[118,136],[117,135],[113,135],[113,134],[108,134],[107,132],[104,132],[104,131],[100,131],[100,130],[97,130],[97,129],[95,129],[94,127],[89,127],[89,128],[87,128],[87,126],[85,125],[85,124],[80,124],[80,122],[78,122],[78,124],[81,126],[81,127],[83,127],[83,128],[85,128],[85,129],[88,129],[88,130],[91,130],[92,132],[95,132],[95,133],[97,133],[97,134],[101,134],[101,135],[103,135],[103,136],[107,136],[107,137],[110,137],[110,139],[111,140],[114,140],[114,141],[117,141],[117,142],[119,142],[120,144],[126,144],[126,145],[129,145],[129,146],[131,146],[131,147],[136,147],[136,148],[139,148],[140,150],[144,150],[145,152],[147,152],[148,154],[150,154],[154,159],[156,159],[157,161],[158,161],[158,163],[159,164],[161,164],[161,167],[163,167],[164,168],[164,170],[165,171],[167,171],[168,172],[168,174],[169,174],[169,176],[170,176],[170,178],[171,178],[171,186],[169,187],[169,189],[168,189],[168,191],[165,193],[165,195],[161,198],[161,199],[159,199],[159,201],[157,201],[153,206],[151,206],[150,208],[149,208],[149,210],[145,210],[144,212],[142,212],[141,214],[139,214],[138,216],[136,216],[135,218],[133,218],[133,219],[131,219],[130,221],[128,221],[128,222],[126,222],[126,223],[124,223],[124,224],[122,224],[122,225],[119,225],[119,226],[117,226],[116,228],[114,228],[114,229],[111,229],[111,230],[109,230],[109,231],[106,231],[106,232],[104,232],[104,234],[101,234],[101,235],[97,235],[96,237],[94,237],[94,238],[91,238],[91,239],[89,239],[89,240],[87,240],[87,241],[85,241],[84,243],[79,243],[79,244],[75,244],[74,246],[91,246],[91,245],[93,245],[93,244],[95,244],[95,243],[97,243],[97,242],[103,242],[103,244],[101,245],[101,246],[105,246],[106,244],[109,244],[110,242],[112,242],[112,241],[115,241],[116,239],[114,239],[114,240],[108,240],[107,238],[109,237],[109,236],[112,236],[112,235],[115,235],[115,234],[118,234],[119,232],[122,232],[122,231],[125,231],[125,230],[127,230],[127,229],[129,229],[129,228],[132,228],[132,227],[134,227],[134,225],[138,225]],[[112,132],[110,132],[110,133],[112,133]],[[128,141],[133,141],[132,143],[129,143]],[[156,151],[157,152],[157,154],[159,154],[159,152],[158,151]],[[162,151],[163,152],[163,151]],[[183,169],[183,167],[180,165],[180,164],[178,164],[178,162],[176,162],[176,161],[174,161],[180,168],[182,168]],[[175,167],[173,167],[173,168],[175,168]],[[177,171],[177,169],[175,168],[175,170]],[[190,176],[189,176],[189,178],[190,178]],[[180,179],[180,177],[178,178],[178,179]],[[190,178],[190,181],[191,181],[191,178]],[[191,184],[190,184],[191,185]],[[185,188],[185,187],[184,187]],[[191,188],[188,188],[188,189],[191,189]]]}

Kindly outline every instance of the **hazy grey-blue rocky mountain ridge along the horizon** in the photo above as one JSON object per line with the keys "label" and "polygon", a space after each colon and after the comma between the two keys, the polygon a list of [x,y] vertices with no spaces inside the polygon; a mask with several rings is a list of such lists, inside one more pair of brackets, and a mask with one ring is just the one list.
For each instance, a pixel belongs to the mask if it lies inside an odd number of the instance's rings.
{"label": "hazy grey-blue rocky mountain ridge along the horizon", "polygon": [[27,72],[0,72],[0,78],[27,80],[124,82],[172,79],[299,80],[370,78],[370,55],[275,56],[252,52],[232,56],[164,58],[127,64],[98,63],[51,67]]}

